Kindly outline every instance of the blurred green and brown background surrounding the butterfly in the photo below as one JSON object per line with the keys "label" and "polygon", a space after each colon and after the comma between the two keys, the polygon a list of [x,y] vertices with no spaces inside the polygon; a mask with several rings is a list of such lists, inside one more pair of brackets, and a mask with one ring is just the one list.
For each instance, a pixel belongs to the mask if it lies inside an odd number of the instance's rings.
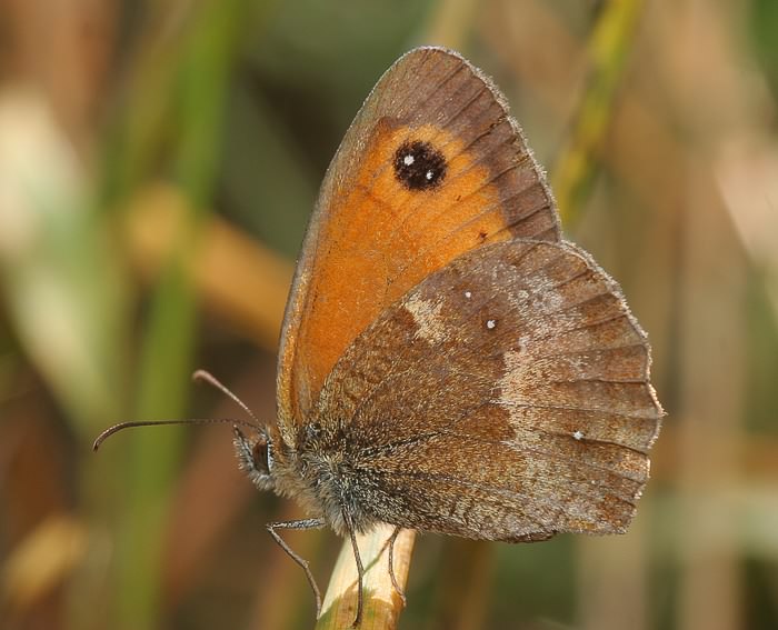
{"label": "blurred green and brown background surrounding the butterfly", "polygon": [[[668,417],[624,537],[418,540],[405,629],[778,627],[778,3],[2,0],[0,627],[310,628],[211,370],[273,419],[318,183],[421,43],[495,77]],[[340,541],[290,533],[327,583]]]}

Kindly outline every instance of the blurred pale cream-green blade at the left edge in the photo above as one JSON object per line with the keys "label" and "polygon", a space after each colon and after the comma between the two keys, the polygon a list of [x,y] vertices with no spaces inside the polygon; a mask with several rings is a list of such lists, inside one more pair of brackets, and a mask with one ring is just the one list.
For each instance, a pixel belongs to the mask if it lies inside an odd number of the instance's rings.
{"label": "blurred pale cream-green blade at the left edge", "polygon": [[124,278],[50,104],[0,96],[0,291],[27,357],[79,437],[121,408]]}

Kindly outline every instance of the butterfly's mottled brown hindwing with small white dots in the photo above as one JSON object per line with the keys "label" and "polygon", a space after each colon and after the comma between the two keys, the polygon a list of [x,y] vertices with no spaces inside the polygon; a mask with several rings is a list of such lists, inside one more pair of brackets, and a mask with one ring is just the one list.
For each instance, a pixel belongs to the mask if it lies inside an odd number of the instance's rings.
{"label": "butterfly's mottled brown hindwing with small white dots", "polygon": [[389,307],[337,362],[313,418],[342,424],[376,520],[495,540],[622,531],[661,416],[649,363],[585,252],[513,240]]}

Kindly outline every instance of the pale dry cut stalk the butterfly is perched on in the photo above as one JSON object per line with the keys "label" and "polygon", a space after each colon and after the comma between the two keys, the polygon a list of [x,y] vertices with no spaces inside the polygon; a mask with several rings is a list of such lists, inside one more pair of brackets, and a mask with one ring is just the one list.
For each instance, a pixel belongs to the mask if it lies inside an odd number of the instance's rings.
{"label": "pale dry cut stalk the butterfly is perched on", "polygon": [[[389,574],[389,538],[393,526],[382,524],[371,533],[357,537],[359,552],[365,563],[365,603],[360,630],[391,630],[397,628],[405,606],[395,590]],[[416,532],[402,530],[395,541],[395,577],[405,589],[413,551]],[[321,607],[321,618],[316,630],[342,630],[351,628],[357,612],[357,564],[350,540],[343,541],[338,561]]]}

